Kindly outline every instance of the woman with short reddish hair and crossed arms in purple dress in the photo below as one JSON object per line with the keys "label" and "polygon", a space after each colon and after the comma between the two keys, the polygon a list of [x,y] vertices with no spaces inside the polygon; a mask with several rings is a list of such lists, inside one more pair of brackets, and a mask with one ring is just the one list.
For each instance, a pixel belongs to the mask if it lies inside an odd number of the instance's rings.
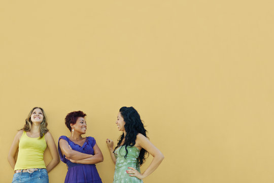
{"label": "woman with short reddish hair and crossed arms in purple dress", "polygon": [[87,129],[85,116],[82,111],[74,111],[65,117],[71,136],[61,136],[58,142],[59,156],[68,169],[65,183],[102,182],[95,166],[104,160],[101,150],[93,137],[82,137]]}

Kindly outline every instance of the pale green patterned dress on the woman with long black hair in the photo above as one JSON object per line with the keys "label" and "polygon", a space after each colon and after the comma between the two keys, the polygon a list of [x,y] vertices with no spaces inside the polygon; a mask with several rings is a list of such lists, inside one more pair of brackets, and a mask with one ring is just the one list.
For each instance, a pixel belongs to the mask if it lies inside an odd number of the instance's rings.
{"label": "pale green patterned dress on the woman with long black hair", "polygon": [[138,157],[140,150],[135,146],[127,146],[127,156],[125,146],[120,146],[114,151],[114,156],[116,158],[115,172],[113,183],[140,183],[143,180],[129,176],[130,174],[126,173],[126,170],[130,170],[127,167],[135,168],[140,172],[140,166]]}

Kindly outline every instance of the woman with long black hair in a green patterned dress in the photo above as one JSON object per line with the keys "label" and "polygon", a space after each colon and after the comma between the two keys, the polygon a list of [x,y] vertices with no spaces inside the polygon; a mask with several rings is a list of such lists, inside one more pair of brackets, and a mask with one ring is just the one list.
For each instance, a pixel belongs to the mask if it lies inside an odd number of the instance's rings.
{"label": "woman with long black hair in a green patterned dress", "polygon": [[[143,182],[160,165],[164,156],[147,138],[139,113],[133,107],[122,107],[119,110],[116,125],[122,135],[113,149],[113,141],[107,139],[111,158],[115,164],[114,183]],[[145,162],[146,154],[154,158],[149,167],[140,172],[140,166]]]}

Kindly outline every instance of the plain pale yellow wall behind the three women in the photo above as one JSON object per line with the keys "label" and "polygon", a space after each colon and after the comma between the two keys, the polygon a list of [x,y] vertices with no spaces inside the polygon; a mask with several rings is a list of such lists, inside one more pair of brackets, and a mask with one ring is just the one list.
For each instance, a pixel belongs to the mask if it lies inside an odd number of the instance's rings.
{"label": "plain pale yellow wall behind the three women", "polygon": [[[274,181],[273,1],[0,2],[0,182],[29,110],[57,144],[68,112],[87,113],[104,155],[122,106],[141,114],[165,156],[144,182]],[[50,160],[46,150],[45,162]],[[150,164],[150,157],[141,171]],[[63,182],[66,166],[49,173]]]}

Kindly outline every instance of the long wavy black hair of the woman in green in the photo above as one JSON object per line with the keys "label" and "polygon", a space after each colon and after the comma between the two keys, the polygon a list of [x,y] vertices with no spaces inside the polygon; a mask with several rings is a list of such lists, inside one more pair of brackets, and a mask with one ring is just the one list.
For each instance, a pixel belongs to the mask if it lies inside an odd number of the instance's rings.
{"label": "long wavy black hair of the woman in green", "polygon": [[[119,147],[123,139],[125,139],[122,146],[125,146],[126,155],[124,156],[124,158],[126,158],[128,153],[127,146],[135,145],[135,140],[138,133],[141,133],[142,135],[147,137],[147,130],[144,128],[144,124],[142,123],[139,113],[133,107],[122,107],[119,111],[121,112],[121,115],[123,116],[125,121],[124,128],[126,131],[126,135],[124,136],[124,133],[123,133],[118,138],[118,144],[115,147],[115,149]],[[142,166],[142,164],[146,161],[147,157],[145,157],[145,155],[149,155],[149,153],[147,150],[142,148],[138,157],[140,166]]]}

